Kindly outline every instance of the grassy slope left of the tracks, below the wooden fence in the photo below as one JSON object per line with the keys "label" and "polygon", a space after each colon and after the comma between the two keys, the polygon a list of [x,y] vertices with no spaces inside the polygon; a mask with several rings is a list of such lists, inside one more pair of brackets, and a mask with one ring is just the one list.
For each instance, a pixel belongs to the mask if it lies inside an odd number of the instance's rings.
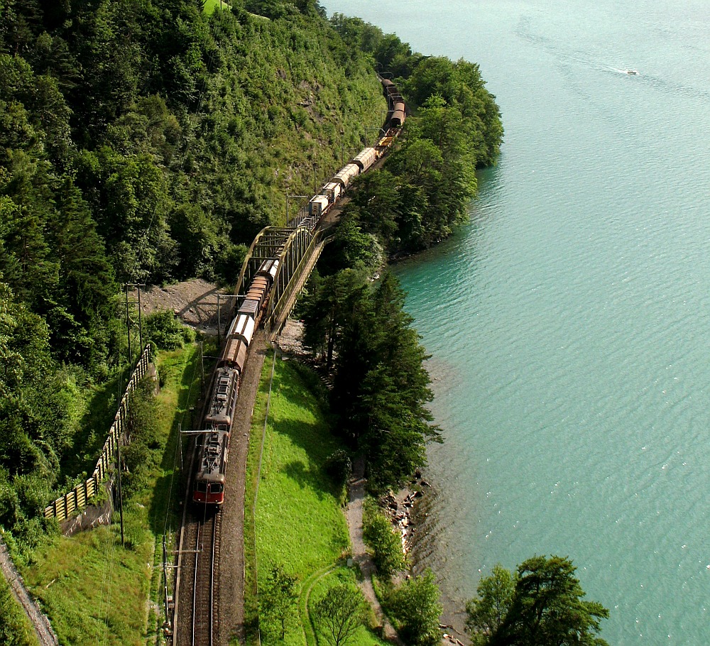
{"label": "grassy slope left of the tracks, below the wooden fence", "polygon": [[158,363],[163,388],[157,434],[148,456],[151,466],[133,478],[124,500],[125,547],[114,523],[72,538],[48,539],[23,570],[62,645],[158,640],[162,536],[166,527],[174,535],[177,526],[170,500],[181,487],[178,425],[188,423],[185,411],[200,395],[200,347],[161,352]]}

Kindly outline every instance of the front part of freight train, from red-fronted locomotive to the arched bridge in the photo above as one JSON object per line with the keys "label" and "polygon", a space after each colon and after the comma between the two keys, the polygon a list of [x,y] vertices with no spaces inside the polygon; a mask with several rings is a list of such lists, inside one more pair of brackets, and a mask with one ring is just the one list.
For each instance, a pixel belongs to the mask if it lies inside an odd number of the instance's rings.
{"label": "front part of freight train, from red-fronted locomotive to the arched bridge", "polygon": [[224,351],[217,362],[200,448],[200,464],[192,487],[192,500],[203,505],[224,503],[224,476],[229,456],[229,433],[239,396],[239,382],[246,353],[258,328],[271,286],[278,272],[278,258],[267,258],[258,268],[246,296],[229,324]]}

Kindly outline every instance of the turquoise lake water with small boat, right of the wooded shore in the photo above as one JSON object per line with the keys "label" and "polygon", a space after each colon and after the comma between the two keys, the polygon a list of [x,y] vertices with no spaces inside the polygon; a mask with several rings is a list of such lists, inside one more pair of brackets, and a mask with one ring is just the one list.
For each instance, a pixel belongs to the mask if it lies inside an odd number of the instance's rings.
{"label": "turquoise lake water with small boat, right of the wooded shore", "polygon": [[610,644],[709,644],[710,3],[324,4],[479,62],[506,127],[470,224],[396,269],[446,439],[419,558],[462,607],[568,555]]}

